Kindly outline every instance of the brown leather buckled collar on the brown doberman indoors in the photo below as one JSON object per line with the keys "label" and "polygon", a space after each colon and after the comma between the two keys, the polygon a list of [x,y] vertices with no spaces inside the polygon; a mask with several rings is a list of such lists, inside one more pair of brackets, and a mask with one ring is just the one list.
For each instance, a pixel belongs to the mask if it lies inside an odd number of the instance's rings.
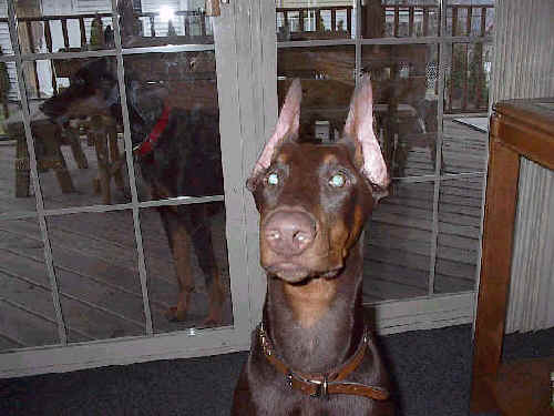
{"label": "brown leather buckled collar on the brown doberman indoors", "polygon": [[263,322],[258,325],[257,332],[266,359],[275,367],[275,369],[286,376],[288,385],[294,389],[300,390],[311,397],[324,398],[327,398],[330,394],[347,394],[363,396],[375,400],[386,400],[390,396],[389,392],[382,387],[345,382],[345,378],[358,368],[360,363],[363,361],[369,342],[369,331],[367,327],[363,331],[363,337],[360,345],[356,349],[356,353],[341,366],[326,374],[307,374],[291,369],[275,354]]}

